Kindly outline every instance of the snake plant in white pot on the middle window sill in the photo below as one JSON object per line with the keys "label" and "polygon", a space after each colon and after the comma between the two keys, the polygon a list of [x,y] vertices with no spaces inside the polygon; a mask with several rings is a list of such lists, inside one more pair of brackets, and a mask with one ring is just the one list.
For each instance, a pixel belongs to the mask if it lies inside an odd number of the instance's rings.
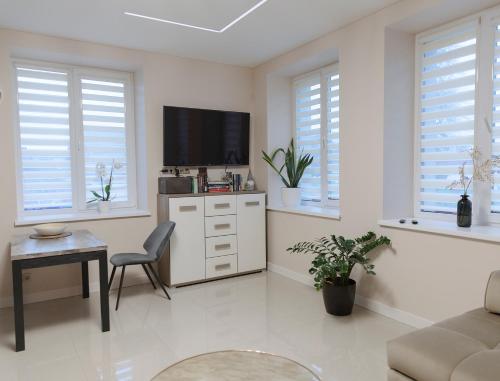
{"label": "snake plant in white pot on the middle window sill", "polygon": [[[283,154],[283,164],[278,168],[275,160],[280,153]],[[297,156],[292,139],[286,151],[284,148],[278,148],[270,155],[262,151],[262,158],[280,176],[281,181],[285,185],[284,188],[281,188],[283,205],[288,207],[298,206],[301,199],[299,183],[304,175],[304,171],[313,162],[311,154],[301,152]],[[283,174],[283,170],[285,170],[285,174]]]}

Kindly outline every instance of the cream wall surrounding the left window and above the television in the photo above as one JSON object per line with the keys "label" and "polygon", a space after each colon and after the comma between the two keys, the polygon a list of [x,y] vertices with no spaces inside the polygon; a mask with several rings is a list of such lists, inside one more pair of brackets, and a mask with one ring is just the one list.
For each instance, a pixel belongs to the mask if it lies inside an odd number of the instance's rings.
{"label": "cream wall surrounding the left window and above the television", "polygon": [[[11,57],[91,65],[133,71],[136,77],[136,111],[142,126],[146,155],[142,181],[147,184],[151,217],[72,223],[70,229],[85,228],[109,244],[109,254],[140,250],[142,242],[156,223],[157,177],[162,165],[163,105],[252,111],[252,72],[247,68],[183,59],[164,54],[114,48],[73,40],[52,38],[0,29],[0,305],[11,295],[11,268],[8,242],[13,234],[26,233],[29,227],[14,228],[16,186],[13,120],[15,91]],[[65,295],[66,289],[78,291],[80,270],[77,265],[30,270],[25,283],[26,299]],[[91,265],[91,282],[97,267]],[[130,271],[127,282],[143,281],[142,270]],[[147,281],[147,280],[146,280]],[[61,289],[65,289],[61,291]],[[38,295],[37,295],[38,293]],[[40,295],[41,293],[41,295]]]}

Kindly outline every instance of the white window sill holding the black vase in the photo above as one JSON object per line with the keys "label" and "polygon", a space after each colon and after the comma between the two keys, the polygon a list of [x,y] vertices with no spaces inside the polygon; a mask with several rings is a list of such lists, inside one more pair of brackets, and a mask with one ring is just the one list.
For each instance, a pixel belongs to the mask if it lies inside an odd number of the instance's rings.
{"label": "white window sill holding the black vase", "polygon": [[489,241],[500,243],[499,226],[471,226],[470,228],[459,228],[455,223],[448,221],[434,221],[417,219],[418,225],[411,223],[411,218],[406,219],[406,223],[401,224],[399,220],[380,220],[380,226],[426,232],[432,234],[447,235],[465,239],[474,239],[479,241]]}

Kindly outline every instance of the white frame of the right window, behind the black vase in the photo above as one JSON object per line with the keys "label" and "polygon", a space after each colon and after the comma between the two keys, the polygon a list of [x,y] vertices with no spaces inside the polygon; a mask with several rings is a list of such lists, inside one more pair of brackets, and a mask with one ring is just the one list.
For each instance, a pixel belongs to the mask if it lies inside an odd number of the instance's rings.
{"label": "white frame of the right window, behind the black vase", "polygon": [[[422,80],[422,41],[431,36],[457,28],[467,23],[476,24],[476,79],[474,97],[474,146],[478,147],[483,158],[491,157],[492,132],[489,130],[493,116],[493,60],[495,45],[495,21],[500,23],[500,7],[495,7],[441,25],[415,36],[415,82],[414,82],[414,194],[413,213],[415,217],[440,221],[454,221],[456,213],[423,212],[420,210],[421,176],[421,80]],[[491,186],[473,182],[473,213],[488,210],[487,223],[500,223],[500,213],[491,212]],[[458,197],[457,197],[458,201]],[[486,208],[486,209],[485,209]],[[477,212],[474,213],[477,218]],[[473,216],[474,217],[474,216]],[[484,221],[481,221],[484,222]]]}

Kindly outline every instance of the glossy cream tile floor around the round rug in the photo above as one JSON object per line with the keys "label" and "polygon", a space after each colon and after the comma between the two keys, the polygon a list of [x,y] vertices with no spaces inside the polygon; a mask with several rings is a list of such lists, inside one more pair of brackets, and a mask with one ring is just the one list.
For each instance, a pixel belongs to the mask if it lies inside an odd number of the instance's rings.
{"label": "glossy cream tile floor around the round rug", "polygon": [[0,379],[149,380],[195,354],[254,349],[299,361],[323,381],[377,381],[385,380],[385,342],[411,331],[362,308],[330,316],[320,293],[271,272],[170,293],[169,302],[149,284],[124,289],[104,334],[97,293],[26,305],[20,353],[12,309],[0,310]]}

